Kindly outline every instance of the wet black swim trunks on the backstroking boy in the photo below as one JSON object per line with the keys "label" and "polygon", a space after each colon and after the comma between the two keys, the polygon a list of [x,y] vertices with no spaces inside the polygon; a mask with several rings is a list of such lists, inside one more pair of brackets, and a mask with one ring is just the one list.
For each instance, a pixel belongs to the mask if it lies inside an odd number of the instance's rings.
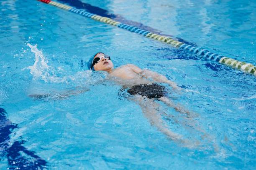
{"label": "wet black swim trunks on the backstroking boy", "polygon": [[164,96],[165,87],[162,85],[158,85],[156,83],[153,84],[143,84],[143,85],[134,85],[127,90],[131,95],[142,95],[148,98],[160,98]]}

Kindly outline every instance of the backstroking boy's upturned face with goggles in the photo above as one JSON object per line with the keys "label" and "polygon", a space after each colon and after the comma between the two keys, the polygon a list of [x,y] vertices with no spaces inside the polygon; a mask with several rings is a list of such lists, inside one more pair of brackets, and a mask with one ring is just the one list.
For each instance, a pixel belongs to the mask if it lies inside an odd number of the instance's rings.
{"label": "backstroking boy's upturned face with goggles", "polygon": [[103,56],[104,56],[103,53],[98,53],[94,57],[94,59],[96,57],[100,57],[100,61],[93,66],[94,70],[96,70],[96,71],[109,71],[114,67],[113,62],[111,60],[109,60],[108,58],[105,58]]}

